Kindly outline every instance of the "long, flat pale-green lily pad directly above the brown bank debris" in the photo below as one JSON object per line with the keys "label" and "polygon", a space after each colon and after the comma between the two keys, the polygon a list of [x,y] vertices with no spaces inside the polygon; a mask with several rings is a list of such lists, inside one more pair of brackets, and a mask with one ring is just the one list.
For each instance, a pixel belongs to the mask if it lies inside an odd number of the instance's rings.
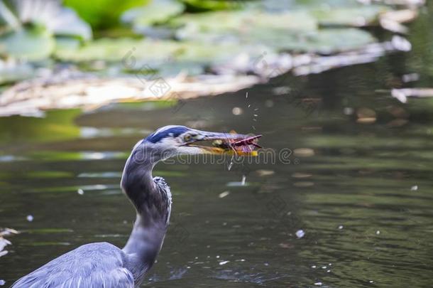
{"label": "long, flat pale-green lily pad directly above the brown bank debris", "polygon": [[[63,61],[87,62],[103,60],[110,63],[120,62],[124,70],[142,70],[143,65],[160,68],[169,72],[168,65],[174,70],[194,70],[197,65],[211,65],[228,61],[240,53],[260,55],[269,50],[261,45],[239,46],[231,43],[177,42],[140,39],[99,39],[79,49],[59,49],[57,58]],[[173,71],[173,69],[171,69]]]}

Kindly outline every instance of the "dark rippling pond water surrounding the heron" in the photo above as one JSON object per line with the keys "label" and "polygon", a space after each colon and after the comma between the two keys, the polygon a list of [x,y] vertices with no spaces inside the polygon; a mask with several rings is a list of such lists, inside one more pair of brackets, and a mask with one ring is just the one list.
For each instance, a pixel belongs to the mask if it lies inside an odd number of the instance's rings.
{"label": "dark rippling pond water surrounding the heron", "polygon": [[[261,133],[280,158],[230,171],[231,159],[159,164],[172,224],[146,287],[431,287],[433,102],[402,104],[389,90],[431,87],[432,27],[428,14],[412,24],[411,53],[180,109],[1,118],[0,227],[21,234],[6,237],[0,279],[7,286],[87,242],[124,245],[134,212],[119,181],[131,147],[157,127],[186,124]],[[402,82],[410,73],[420,80]]]}

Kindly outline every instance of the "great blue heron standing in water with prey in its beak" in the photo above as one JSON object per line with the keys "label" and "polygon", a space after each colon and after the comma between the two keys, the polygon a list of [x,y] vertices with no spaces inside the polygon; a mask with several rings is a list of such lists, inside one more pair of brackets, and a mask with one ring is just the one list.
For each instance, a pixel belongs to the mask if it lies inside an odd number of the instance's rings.
{"label": "great blue heron standing in water with prey in its beak", "polygon": [[[156,130],[133,147],[121,178],[121,188],[137,211],[125,247],[107,242],[82,245],[18,279],[12,287],[139,287],[160,252],[170,219],[170,188],[163,178],[153,178],[155,164],[180,154],[219,154],[227,150],[195,145],[199,141],[218,140],[220,146],[227,146],[242,139],[248,137],[184,126]],[[248,148],[248,144],[242,148]]]}

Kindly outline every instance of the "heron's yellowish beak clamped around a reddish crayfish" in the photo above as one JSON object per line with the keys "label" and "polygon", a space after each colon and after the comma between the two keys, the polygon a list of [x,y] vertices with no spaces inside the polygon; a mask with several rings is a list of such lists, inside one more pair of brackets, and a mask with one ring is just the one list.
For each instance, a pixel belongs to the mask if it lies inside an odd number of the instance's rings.
{"label": "heron's yellowish beak clamped around a reddish crayfish", "polygon": [[[236,133],[199,132],[198,137],[192,139],[187,146],[202,149],[203,154],[230,154],[239,156],[257,156],[258,138],[261,135],[245,135]],[[207,142],[211,145],[197,145],[197,142]]]}

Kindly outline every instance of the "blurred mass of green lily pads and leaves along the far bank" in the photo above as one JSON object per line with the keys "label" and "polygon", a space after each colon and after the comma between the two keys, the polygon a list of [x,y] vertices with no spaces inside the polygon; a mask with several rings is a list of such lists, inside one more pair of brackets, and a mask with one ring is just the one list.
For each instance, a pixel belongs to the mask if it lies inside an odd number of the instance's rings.
{"label": "blurred mass of green lily pads and leaves along the far bank", "polygon": [[[35,10],[38,1],[43,0],[26,3]],[[378,42],[376,33],[359,26],[378,25],[378,15],[393,9],[356,0],[320,5],[312,0],[65,0],[50,1],[43,13],[23,19],[20,11],[26,14],[29,7],[20,3],[11,9],[18,29],[6,21],[6,31],[1,30],[7,13],[0,9],[0,65],[9,58],[15,65],[0,70],[0,84],[31,78],[38,65],[52,69],[57,63],[114,73],[135,73],[146,64],[164,76],[199,75],[239,55],[252,60],[264,51],[357,50]],[[123,60],[131,50],[137,63],[126,68]]]}

